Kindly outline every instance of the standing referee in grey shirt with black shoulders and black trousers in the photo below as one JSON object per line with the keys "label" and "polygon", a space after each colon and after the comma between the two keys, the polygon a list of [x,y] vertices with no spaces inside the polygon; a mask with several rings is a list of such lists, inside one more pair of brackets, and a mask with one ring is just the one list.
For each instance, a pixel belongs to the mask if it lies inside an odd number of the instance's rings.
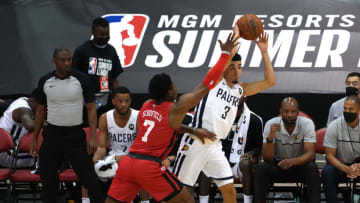
{"label": "standing referee in grey shirt with black shoulders and black trousers", "polygon": [[[42,124],[43,143],[40,148],[40,178],[44,184],[44,202],[57,202],[58,169],[64,158],[71,162],[79,181],[89,190],[91,202],[102,203],[104,197],[88,153],[96,150],[95,97],[87,75],[71,70],[71,54],[65,48],[54,51],[56,70],[40,78],[38,108],[35,114],[34,140],[31,154],[36,155],[37,138]],[[91,138],[81,124],[83,105],[86,103]]]}

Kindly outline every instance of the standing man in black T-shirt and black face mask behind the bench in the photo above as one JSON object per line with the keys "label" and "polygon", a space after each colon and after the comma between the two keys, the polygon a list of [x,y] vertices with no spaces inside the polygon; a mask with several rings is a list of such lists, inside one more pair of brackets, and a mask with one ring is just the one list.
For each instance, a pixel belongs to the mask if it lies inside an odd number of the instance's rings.
{"label": "standing man in black T-shirt and black face mask behind the bench", "polygon": [[92,35],[92,40],[76,48],[72,68],[90,76],[95,89],[96,109],[99,110],[107,105],[109,92],[118,86],[116,78],[123,69],[115,48],[108,44],[109,22],[104,18],[94,19]]}

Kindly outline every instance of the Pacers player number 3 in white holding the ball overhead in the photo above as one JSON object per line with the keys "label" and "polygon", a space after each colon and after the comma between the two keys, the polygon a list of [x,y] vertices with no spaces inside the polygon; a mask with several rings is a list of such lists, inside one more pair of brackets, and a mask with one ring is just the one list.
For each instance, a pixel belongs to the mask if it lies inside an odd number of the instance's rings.
{"label": "Pacers player number 3 in white holding the ball overhead", "polygon": [[[226,203],[236,202],[233,174],[222,145],[234,123],[240,98],[261,92],[275,84],[274,70],[267,53],[269,35],[262,33],[257,47],[264,63],[264,80],[249,84],[239,84],[242,71],[241,57],[236,54],[223,72],[223,79],[213,88],[195,108],[192,127],[204,128],[216,134],[216,141],[207,140],[202,144],[196,136],[185,134],[175,161],[174,173],[185,184],[192,187],[200,172],[212,177]],[[250,199],[250,200],[249,200]],[[251,202],[251,197],[244,198]],[[208,202],[208,199],[200,200]]]}

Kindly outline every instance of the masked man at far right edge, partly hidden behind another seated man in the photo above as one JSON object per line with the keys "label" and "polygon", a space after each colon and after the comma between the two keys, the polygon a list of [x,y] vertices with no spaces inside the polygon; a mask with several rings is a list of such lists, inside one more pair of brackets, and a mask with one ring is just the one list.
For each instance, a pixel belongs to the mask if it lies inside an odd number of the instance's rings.
{"label": "masked man at far right edge, partly hidden behind another seated man", "polygon": [[[346,87],[346,96],[355,95],[360,97],[359,95],[360,73],[358,72],[349,73],[346,77],[345,87]],[[331,121],[342,116],[345,98],[346,97],[341,98],[336,102],[332,103],[329,110],[329,117],[326,124],[327,126],[329,126]]]}

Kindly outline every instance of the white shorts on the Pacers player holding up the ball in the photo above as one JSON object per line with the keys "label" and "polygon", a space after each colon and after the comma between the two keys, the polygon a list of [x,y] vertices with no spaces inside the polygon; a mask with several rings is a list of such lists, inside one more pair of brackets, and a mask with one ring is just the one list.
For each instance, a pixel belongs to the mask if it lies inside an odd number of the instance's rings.
{"label": "white shorts on the Pacers player holding up the ball", "polygon": [[[176,156],[173,173],[185,185],[193,186],[203,171],[219,184],[233,182],[233,173],[220,141],[215,144],[202,144],[201,141],[184,135]],[[226,183],[224,181],[226,180]],[[221,185],[218,185],[220,187]]]}

